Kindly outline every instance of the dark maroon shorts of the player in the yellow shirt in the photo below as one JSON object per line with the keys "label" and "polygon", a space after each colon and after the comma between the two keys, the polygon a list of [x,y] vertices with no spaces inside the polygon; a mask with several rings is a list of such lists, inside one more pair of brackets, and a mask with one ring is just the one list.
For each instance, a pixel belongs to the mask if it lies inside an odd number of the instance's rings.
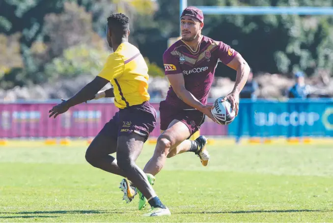
{"label": "dark maroon shorts of the player in the yellow shirt", "polygon": [[134,132],[147,140],[156,126],[156,116],[156,110],[149,102],[119,109],[119,112],[116,112],[105,124],[100,134],[117,139],[119,136]]}

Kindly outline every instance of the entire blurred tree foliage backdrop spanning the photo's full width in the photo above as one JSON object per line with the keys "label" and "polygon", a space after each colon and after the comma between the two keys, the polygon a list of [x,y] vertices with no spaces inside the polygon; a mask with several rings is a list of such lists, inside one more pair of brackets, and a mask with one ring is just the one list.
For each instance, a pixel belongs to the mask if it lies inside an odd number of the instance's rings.
{"label": "entire blurred tree foliage backdrop spanning the photo's full width", "polygon": [[[333,1],[188,0],[188,5],[333,6]],[[178,0],[2,0],[1,87],[96,74],[109,54],[106,18],[116,11],[130,16],[130,41],[147,58],[151,75],[163,76],[167,40],[180,31]],[[240,52],[255,72],[312,75],[333,69],[332,16],[205,15],[203,34]],[[219,66],[216,75],[235,72]]]}

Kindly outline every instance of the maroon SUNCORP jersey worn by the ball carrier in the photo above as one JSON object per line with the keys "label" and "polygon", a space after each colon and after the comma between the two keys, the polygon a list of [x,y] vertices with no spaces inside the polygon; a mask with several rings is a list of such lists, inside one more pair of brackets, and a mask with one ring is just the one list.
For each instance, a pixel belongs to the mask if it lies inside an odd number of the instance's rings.
{"label": "maroon SUNCORP jersey worn by the ball carrier", "polygon": [[[227,44],[202,36],[195,51],[178,40],[164,53],[163,62],[166,75],[182,73],[186,89],[206,105],[217,63],[228,64],[237,54]],[[167,92],[166,102],[178,109],[193,109],[177,97],[172,86]]]}

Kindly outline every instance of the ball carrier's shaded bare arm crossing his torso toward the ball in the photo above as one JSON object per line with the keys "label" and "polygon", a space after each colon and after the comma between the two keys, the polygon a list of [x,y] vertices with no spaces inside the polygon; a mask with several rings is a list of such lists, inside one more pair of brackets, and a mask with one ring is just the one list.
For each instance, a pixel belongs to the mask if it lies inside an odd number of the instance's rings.
{"label": "ball carrier's shaded bare arm crossing his torso toward the ball", "polygon": [[179,73],[167,75],[167,79],[169,80],[174,92],[182,101],[194,109],[206,114],[209,118],[215,121],[215,118],[211,112],[212,106],[203,105],[193,96],[190,91],[186,89],[183,74]]}

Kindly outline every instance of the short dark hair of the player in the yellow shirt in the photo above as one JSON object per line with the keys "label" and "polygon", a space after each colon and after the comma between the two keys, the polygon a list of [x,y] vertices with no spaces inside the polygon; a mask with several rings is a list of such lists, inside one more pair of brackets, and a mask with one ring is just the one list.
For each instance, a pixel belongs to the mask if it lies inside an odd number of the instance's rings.
{"label": "short dark hair of the player in the yellow shirt", "polygon": [[108,17],[108,27],[113,35],[121,38],[128,33],[130,29],[130,18],[122,13],[113,13]]}

